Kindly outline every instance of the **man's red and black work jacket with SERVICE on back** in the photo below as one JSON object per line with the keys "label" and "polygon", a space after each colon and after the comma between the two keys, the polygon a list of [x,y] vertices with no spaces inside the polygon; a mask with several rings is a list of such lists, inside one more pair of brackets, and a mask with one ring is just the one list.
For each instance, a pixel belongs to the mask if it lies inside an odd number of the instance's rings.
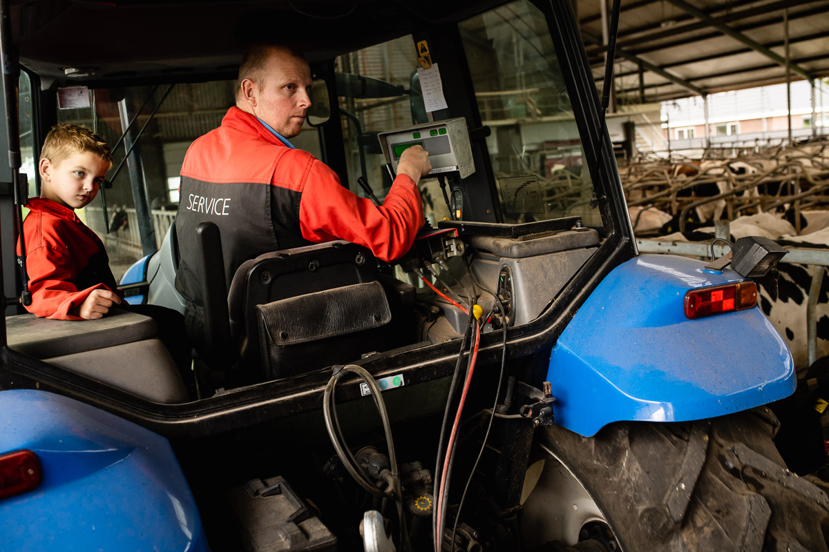
{"label": "man's red and black work jacket with SERVICE on back", "polygon": [[182,166],[176,216],[177,290],[203,306],[196,226],[219,227],[225,281],[266,252],[345,239],[383,261],[402,257],[423,223],[417,185],[398,175],[380,207],[340,184],[308,151],[292,149],[259,119],[230,108],[221,127],[196,139]]}

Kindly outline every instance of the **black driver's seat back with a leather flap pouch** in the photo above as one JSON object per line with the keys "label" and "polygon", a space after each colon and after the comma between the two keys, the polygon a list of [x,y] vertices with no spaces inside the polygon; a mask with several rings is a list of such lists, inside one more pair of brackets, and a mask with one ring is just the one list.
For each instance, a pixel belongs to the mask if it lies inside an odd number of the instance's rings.
{"label": "black driver's seat back with a leather flap pouch", "polygon": [[361,286],[377,278],[371,253],[344,241],[245,262],[228,295],[241,367],[270,380],[381,350],[377,328],[390,317],[385,292],[379,284]]}

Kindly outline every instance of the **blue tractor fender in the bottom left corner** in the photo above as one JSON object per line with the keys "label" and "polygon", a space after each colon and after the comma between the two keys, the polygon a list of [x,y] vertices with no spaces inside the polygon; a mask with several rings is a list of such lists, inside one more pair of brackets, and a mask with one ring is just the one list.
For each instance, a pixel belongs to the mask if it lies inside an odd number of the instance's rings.
{"label": "blue tractor fender in the bottom left corner", "polygon": [[0,551],[209,550],[170,444],[46,391],[0,392],[0,453],[30,449],[43,482],[0,501]]}

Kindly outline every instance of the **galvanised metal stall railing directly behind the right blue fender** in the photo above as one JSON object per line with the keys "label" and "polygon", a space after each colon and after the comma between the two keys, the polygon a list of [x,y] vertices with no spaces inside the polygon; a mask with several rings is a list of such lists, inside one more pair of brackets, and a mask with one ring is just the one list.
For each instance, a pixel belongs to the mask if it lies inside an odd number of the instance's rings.
{"label": "galvanised metal stall railing directly behind the right blue fender", "polygon": [[[728,224],[717,225],[717,237],[728,238]],[[713,249],[714,257],[719,258],[730,251],[730,247],[720,245],[719,242],[711,246],[710,242],[671,242],[659,239],[641,238],[636,240],[640,253],[657,253],[681,255],[685,257],[710,258]],[[780,262],[806,265],[812,271],[812,281],[809,286],[806,306],[806,339],[809,366],[817,360],[817,301],[823,284],[825,268],[829,266],[829,249],[815,249],[812,247],[786,247],[786,255]],[[821,267],[821,269],[818,269]]]}

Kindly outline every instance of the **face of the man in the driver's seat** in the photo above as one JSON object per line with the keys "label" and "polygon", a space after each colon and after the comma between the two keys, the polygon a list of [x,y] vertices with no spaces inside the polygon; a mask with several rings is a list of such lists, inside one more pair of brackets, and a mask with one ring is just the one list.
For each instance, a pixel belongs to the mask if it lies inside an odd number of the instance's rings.
{"label": "face of the man in the driver's seat", "polygon": [[263,74],[263,82],[255,87],[255,116],[286,138],[298,136],[311,106],[308,90],[313,81],[308,62],[274,50]]}

